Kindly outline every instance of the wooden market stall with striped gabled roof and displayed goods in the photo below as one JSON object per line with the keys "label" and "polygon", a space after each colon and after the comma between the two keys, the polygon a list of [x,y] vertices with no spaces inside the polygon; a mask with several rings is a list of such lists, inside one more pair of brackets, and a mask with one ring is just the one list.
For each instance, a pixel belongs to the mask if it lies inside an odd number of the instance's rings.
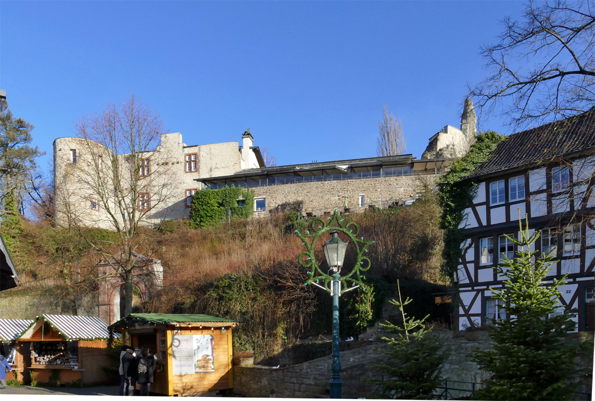
{"label": "wooden market stall with striped gabled roof and displayed goods", "polygon": [[107,324],[98,317],[40,315],[16,342],[19,380],[60,380],[60,384],[107,381],[101,366],[112,364],[108,338]]}

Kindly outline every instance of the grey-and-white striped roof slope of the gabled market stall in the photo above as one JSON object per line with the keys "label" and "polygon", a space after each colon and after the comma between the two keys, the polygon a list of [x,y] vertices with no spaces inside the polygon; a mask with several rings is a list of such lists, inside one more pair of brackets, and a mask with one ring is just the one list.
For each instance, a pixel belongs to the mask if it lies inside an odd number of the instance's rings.
{"label": "grey-and-white striped roof slope of the gabled market stall", "polygon": [[70,340],[107,340],[108,325],[95,316],[41,315],[58,333]]}

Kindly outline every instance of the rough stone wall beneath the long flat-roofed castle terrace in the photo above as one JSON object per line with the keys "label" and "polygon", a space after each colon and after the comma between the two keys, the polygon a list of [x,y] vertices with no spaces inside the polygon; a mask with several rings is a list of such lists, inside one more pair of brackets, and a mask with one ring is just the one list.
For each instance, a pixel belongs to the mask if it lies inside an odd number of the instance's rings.
{"label": "rough stone wall beneath the long flat-roofed castle terrace", "polygon": [[[362,178],[359,180],[315,181],[309,183],[271,185],[253,188],[256,198],[266,199],[266,209],[255,212],[255,216],[268,215],[271,209],[284,203],[303,203],[303,213],[321,215],[334,209],[343,210],[343,200],[352,212],[361,212],[371,202],[386,208],[393,202],[413,200],[423,192],[425,184],[434,188],[441,174]],[[364,207],[359,206],[359,196],[365,196]]]}

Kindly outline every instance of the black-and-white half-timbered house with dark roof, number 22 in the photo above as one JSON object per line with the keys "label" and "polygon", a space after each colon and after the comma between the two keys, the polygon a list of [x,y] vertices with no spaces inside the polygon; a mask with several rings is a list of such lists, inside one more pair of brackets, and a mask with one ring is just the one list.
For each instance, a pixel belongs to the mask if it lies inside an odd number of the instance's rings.
{"label": "black-and-white half-timbered house with dark roof, number 22", "polygon": [[[461,227],[466,241],[458,280],[458,327],[480,327],[488,318],[506,319],[490,287],[506,280],[494,265],[513,258],[519,216],[530,232],[541,230],[532,250],[552,252],[548,279],[568,273],[559,287],[557,312],[572,312],[579,331],[595,326],[595,109],[512,134],[488,161],[466,177],[477,184]],[[546,281],[547,283],[551,281]]]}

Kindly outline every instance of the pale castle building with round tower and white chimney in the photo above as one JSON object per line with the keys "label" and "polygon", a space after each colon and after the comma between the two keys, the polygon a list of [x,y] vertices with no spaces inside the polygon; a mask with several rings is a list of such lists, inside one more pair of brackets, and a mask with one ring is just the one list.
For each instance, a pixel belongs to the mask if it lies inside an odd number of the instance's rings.
{"label": "pale castle building with round tower and white chimney", "polygon": [[[238,142],[186,145],[180,133],[162,134],[154,150],[134,157],[140,160],[131,160],[130,153],[114,155],[90,139],[54,140],[57,223],[68,225],[76,220],[111,229],[114,224],[124,225],[126,218],[118,214],[128,207],[121,202],[129,200],[129,193],[136,198],[130,204],[143,214],[143,224],[181,219],[188,215],[192,195],[202,188],[195,178],[264,167],[250,130],[242,135],[242,146]],[[130,209],[126,214],[131,214]]]}

